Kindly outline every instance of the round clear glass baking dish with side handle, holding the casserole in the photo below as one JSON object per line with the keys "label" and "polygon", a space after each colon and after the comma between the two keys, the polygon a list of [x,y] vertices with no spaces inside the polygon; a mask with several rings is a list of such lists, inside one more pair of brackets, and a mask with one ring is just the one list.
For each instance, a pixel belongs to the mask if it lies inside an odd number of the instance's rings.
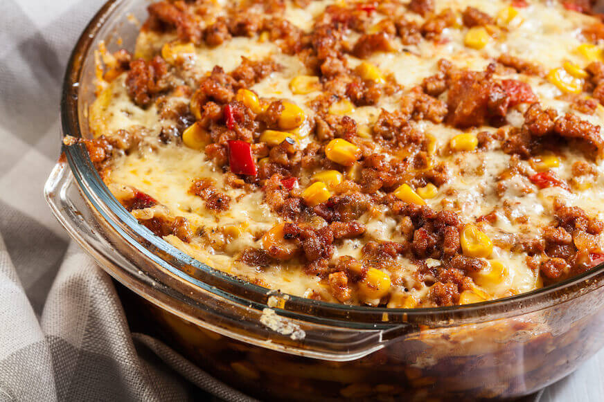
{"label": "round clear glass baking dish with side handle, holding the casserole", "polygon": [[[63,136],[88,137],[94,51],[134,48],[144,0],[112,0],[67,67]],[[350,307],[283,295],[216,271],[136,222],[82,145],[44,189],[53,213],[127,308],[222,381],[262,399],[510,399],[571,373],[604,344],[604,267],[497,301],[434,309]]]}

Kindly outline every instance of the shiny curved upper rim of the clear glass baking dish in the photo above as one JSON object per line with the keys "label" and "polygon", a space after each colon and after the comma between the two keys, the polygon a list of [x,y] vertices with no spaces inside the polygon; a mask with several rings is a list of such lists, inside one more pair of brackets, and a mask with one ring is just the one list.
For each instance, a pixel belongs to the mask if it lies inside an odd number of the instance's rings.
{"label": "shiny curved upper rim of the clear glass baking dish", "polygon": [[[61,120],[62,120],[62,136],[73,136],[82,137],[82,131],[80,131],[79,125],[79,109],[78,109],[78,91],[80,89],[80,75],[84,66],[85,57],[87,57],[91,50],[92,44],[96,39],[96,35],[99,30],[103,28],[103,24],[110,21],[114,11],[119,6],[127,3],[128,0],[109,0],[105,3],[100,10],[91,19],[82,35],[75,44],[71,57],[66,67],[64,75],[64,81],[62,86],[62,99],[61,99]],[[109,189],[100,179],[98,172],[94,169],[88,152],[83,146],[62,146],[62,152],[66,156],[66,160],[74,172],[75,179],[77,181],[80,190],[82,186],[87,188],[96,189],[96,195],[102,200],[104,205],[112,211],[117,219],[124,223],[137,235],[140,235],[153,244],[163,253],[170,255],[175,261],[182,262],[183,264],[190,264],[196,268],[208,273],[209,275],[220,277],[223,281],[228,282],[234,289],[240,289],[241,295],[247,295],[250,293],[256,295],[267,295],[272,291],[267,288],[263,288],[256,284],[251,284],[238,277],[233,277],[227,273],[211,268],[202,262],[198,262],[180,250],[171,246],[165,240],[160,237],[152,235],[148,230],[145,231],[136,219],[123,208],[123,206],[113,197]],[[77,173],[77,174],[75,174]],[[81,191],[80,191],[81,192]],[[88,197],[88,201],[98,209],[96,202]],[[112,223],[113,224],[113,223]],[[113,225],[115,227],[115,225]],[[132,244],[132,241],[129,241]],[[140,245],[140,244],[139,244]],[[169,268],[168,268],[169,269]],[[172,266],[170,272],[175,273],[177,268]],[[192,277],[183,271],[178,270],[177,275],[193,286],[202,286],[204,289],[210,291],[214,295],[222,298],[226,297],[231,299],[233,302],[241,302],[241,295],[236,294],[225,294],[220,289],[215,289],[214,286],[204,286],[205,283],[199,281],[197,278]],[[404,321],[410,321],[412,318],[420,319],[429,318],[430,322],[453,322],[456,318],[474,318],[474,322],[483,322],[490,319],[506,318],[510,316],[520,316],[522,314],[538,311],[553,305],[571,300],[576,297],[580,297],[585,292],[592,291],[589,289],[590,286],[604,286],[604,264],[600,264],[592,268],[591,270],[571,277],[568,280],[559,282],[557,284],[551,284],[541,289],[535,289],[527,293],[521,293],[519,295],[510,296],[508,298],[502,298],[497,300],[490,300],[477,304],[468,304],[464,306],[452,306],[452,307],[431,307],[423,309],[388,309],[384,307],[365,307],[365,306],[348,306],[345,304],[337,304],[332,302],[321,302],[317,300],[310,300],[301,298],[298,296],[290,295],[290,300],[295,301],[296,305],[306,305],[311,307],[312,311],[322,311],[324,314],[321,316],[331,316],[330,311],[350,311],[360,315],[371,316],[373,318],[382,316],[383,313],[388,313],[390,317],[393,316],[404,316]],[[268,307],[266,305],[258,306],[258,302],[253,302],[256,307]],[[288,303],[290,304],[290,303]],[[282,309],[277,309],[281,311]],[[298,320],[308,320],[308,314],[304,314],[302,311],[294,311],[291,309],[283,310],[290,318]],[[355,327],[359,328],[359,322],[350,322],[346,320],[338,320],[342,327]],[[368,321],[371,322],[372,320]],[[464,320],[464,323],[468,323]],[[383,322],[382,322],[383,324]]]}

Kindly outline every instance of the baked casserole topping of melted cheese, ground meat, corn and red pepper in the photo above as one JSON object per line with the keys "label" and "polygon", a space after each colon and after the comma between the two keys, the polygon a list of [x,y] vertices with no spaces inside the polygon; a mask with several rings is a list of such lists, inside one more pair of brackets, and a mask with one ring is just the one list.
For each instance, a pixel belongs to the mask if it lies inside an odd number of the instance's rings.
{"label": "baked casserole topping of melted cheese, ground meat, corn and red pepper", "polygon": [[306,298],[504,298],[604,261],[589,0],[197,0],[101,47],[85,140],[155,235]]}

